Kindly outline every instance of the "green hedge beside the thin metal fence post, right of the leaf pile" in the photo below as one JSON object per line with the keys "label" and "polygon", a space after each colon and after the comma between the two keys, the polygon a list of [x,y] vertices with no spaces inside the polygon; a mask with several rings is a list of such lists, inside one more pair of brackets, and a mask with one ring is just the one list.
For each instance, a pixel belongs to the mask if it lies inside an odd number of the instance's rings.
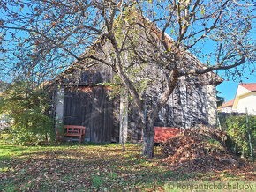
{"label": "green hedge beside the thin metal fence post, right of the leaf pile", "polygon": [[[227,131],[228,143],[230,150],[237,154],[242,154],[245,157],[250,155],[248,129],[245,115],[230,115],[221,119],[222,128]],[[249,124],[252,132],[252,146],[255,146],[256,141],[256,116],[249,116]]]}

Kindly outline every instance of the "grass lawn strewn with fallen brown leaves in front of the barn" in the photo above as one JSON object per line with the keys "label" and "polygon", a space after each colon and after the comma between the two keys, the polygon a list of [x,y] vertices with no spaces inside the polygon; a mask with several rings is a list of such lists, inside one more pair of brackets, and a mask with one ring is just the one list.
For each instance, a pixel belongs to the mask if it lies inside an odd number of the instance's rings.
{"label": "grass lawn strewn with fallen brown leaves in front of the barn", "polygon": [[166,163],[160,147],[155,158],[141,157],[141,146],[63,143],[13,146],[0,140],[0,190],[84,191],[163,190],[173,180],[253,180],[252,171],[184,173]]}

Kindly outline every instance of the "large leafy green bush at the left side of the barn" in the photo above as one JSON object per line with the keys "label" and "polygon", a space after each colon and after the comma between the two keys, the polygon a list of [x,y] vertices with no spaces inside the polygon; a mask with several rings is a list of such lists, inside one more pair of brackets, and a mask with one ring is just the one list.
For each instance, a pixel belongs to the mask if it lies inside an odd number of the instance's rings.
{"label": "large leafy green bush at the left side of the barn", "polygon": [[49,92],[17,78],[0,97],[0,114],[11,120],[9,139],[13,144],[39,144],[55,137],[49,117]]}

